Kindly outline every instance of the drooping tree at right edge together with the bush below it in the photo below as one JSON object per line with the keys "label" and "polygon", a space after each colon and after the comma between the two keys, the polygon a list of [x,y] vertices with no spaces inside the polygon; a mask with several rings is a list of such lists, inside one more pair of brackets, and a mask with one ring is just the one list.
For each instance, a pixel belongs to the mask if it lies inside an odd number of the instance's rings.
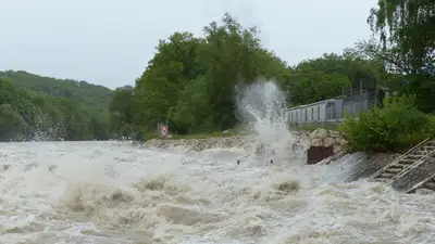
{"label": "drooping tree at right edge together with the bush below it", "polygon": [[386,67],[384,84],[397,97],[343,128],[353,150],[397,151],[435,136],[435,1],[380,0],[369,24],[380,42],[358,50]]}

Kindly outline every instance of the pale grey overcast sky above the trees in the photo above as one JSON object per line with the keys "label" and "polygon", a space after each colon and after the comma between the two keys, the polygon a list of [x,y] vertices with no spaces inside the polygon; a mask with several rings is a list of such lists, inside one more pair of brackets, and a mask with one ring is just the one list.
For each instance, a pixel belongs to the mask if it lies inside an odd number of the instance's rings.
{"label": "pale grey overcast sky above the trees", "polygon": [[0,70],[21,69],[110,88],[134,84],[159,39],[202,35],[225,12],[256,25],[289,64],[341,52],[371,31],[376,0],[0,0]]}

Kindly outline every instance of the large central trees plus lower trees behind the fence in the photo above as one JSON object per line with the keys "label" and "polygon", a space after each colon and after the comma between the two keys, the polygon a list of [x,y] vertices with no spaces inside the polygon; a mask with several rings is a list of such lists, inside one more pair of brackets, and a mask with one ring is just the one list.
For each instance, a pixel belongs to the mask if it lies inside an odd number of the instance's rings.
{"label": "large central trees plus lower trees behind the fence", "polygon": [[165,121],[177,133],[233,128],[237,88],[258,78],[276,80],[296,105],[340,95],[360,80],[373,87],[384,72],[350,51],[288,66],[261,46],[256,28],[244,28],[229,14],[203,34],[160,40],[135,86],[115,90],[110,111],[121,136],[153,132]]}

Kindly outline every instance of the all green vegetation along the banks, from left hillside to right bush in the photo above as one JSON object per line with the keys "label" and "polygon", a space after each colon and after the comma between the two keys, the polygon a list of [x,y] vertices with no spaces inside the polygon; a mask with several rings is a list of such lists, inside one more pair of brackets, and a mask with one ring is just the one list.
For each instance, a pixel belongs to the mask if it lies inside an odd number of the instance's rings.
{"label": "all green vegetation along the banks, from left hillside to right bush", "polygon": [[55,124],[66,140],[149,139],[159,123],[167,123],[174,138],[208,137],[237,126],[239,88],[265,78],[287,92],[290,106],[335,98],[361,81],[364,89],[385,88],[393,98],[383,107],[348,117],[340,128],[353,150],[399,150],[433,134],[434,8],[430,0],[380,0],[369,15],[372,39],[297,65],[266,50],[256,28],[225,14],[203,28],[203,37],[179,31],[160,40],[135,85],[113,93],[86,82],[0,73],[1,137]]}

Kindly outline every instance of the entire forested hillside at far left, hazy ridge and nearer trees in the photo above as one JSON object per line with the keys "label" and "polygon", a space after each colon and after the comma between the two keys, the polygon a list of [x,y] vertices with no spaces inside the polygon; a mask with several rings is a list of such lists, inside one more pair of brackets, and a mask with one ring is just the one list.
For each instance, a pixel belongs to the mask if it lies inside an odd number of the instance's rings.
{"label": "entire forested hillside at far left, hazy ridge and nearer trees", "polygon": [[112,94],[85,81],[0,72],[0,141],[110,139]]}

